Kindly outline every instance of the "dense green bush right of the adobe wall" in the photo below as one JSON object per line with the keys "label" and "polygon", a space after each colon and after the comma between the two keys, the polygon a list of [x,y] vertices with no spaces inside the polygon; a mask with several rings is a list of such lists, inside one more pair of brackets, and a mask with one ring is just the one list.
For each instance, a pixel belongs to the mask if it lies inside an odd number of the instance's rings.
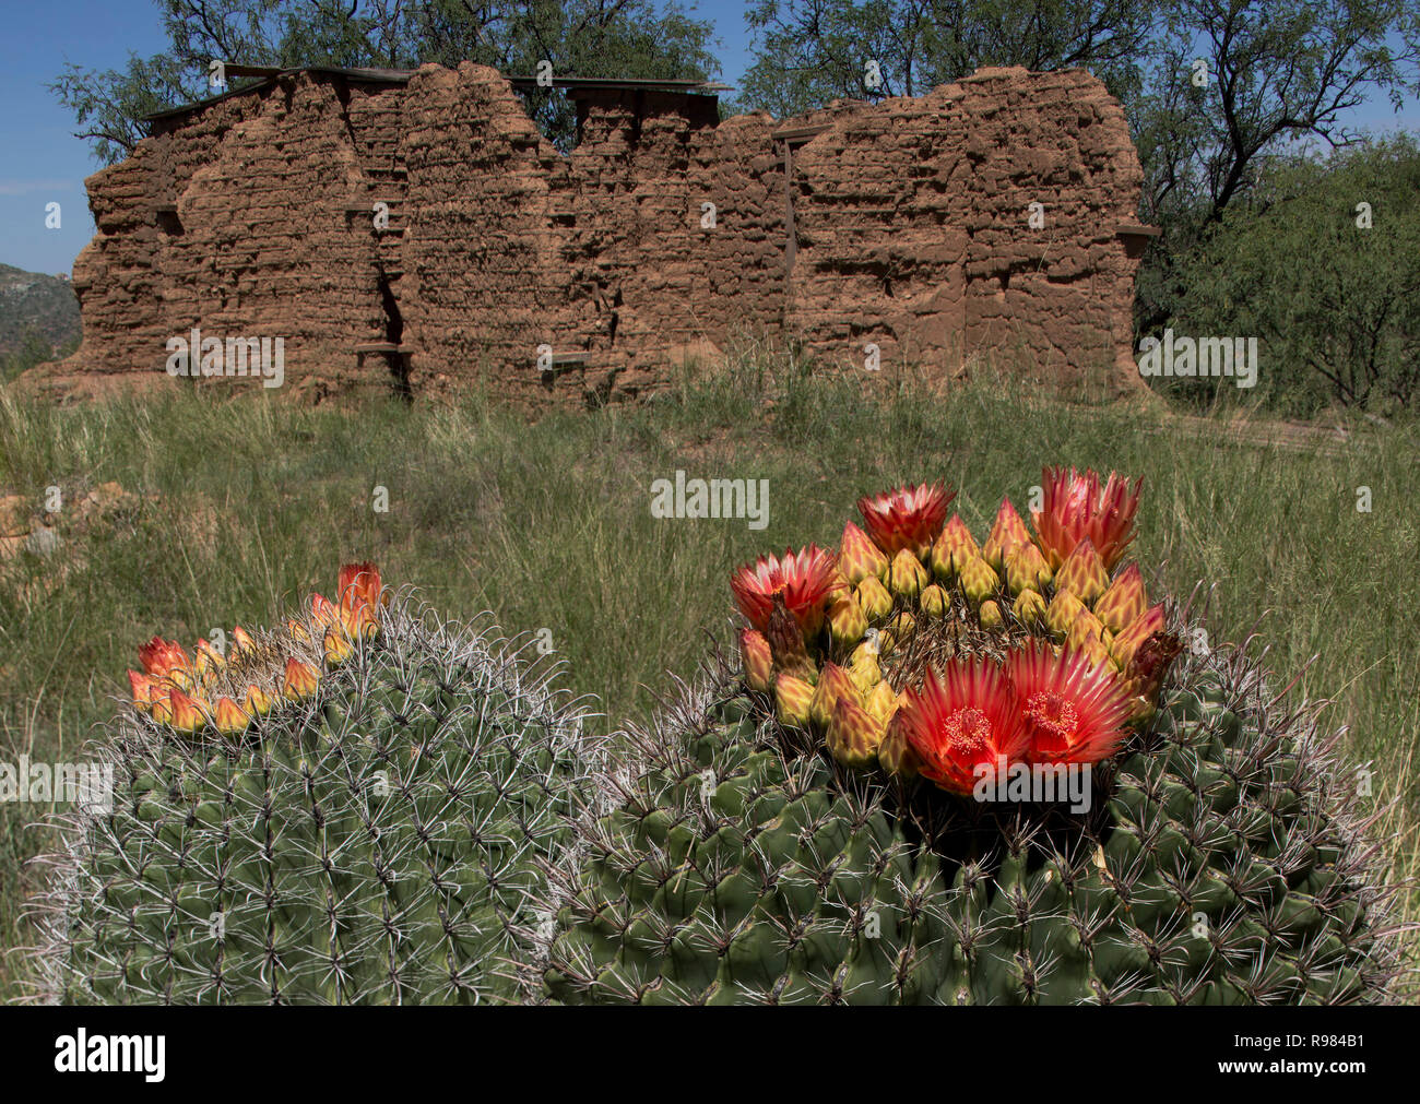
{"label": "dense green bush right of the adobe wall", "polygon": [[[1370,228],[1360,203],[1370,207]],[[1257,335],[1258,394],[1314,414],[1329,403],[1383,414],[1411,407],[1420,383],[1420,148],[1375,142],[1329,160],[1269,162],[1179,261],[1174,326]],[[1210,402],[1230,380],[1190,380]],[[1213,385],[1213,386],[1210,386]]]}

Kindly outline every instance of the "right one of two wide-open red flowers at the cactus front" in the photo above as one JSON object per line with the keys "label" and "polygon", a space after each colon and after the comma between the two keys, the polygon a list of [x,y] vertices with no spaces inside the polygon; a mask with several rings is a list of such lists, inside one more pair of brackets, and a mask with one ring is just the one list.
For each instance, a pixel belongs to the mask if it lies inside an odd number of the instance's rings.
{"label": "right one of two wide-open red flowers at the cactus front", "polygon": [[1032,643],[1007,656],[1005,671],[1030,732],[1032,762],[1096,763],[1119,746],[1130,700],[1108,663],[1069,650],[1056,656]]}

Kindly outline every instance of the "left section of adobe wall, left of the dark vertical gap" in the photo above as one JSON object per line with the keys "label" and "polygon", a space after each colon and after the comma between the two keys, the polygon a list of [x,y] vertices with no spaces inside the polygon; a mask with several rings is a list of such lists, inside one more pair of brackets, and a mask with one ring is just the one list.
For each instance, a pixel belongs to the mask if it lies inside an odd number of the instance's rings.
{"label": "left section of adobe wall, left of the dark vertical gap", "polygon": [[392,159],[400,94],[288,81],[159,126],[89,177],[98,234],[74,265],[84,341],[65,366],[160,370],[193,328],[344,366],[354,341],[383,335],[381,247],[346,207]]}

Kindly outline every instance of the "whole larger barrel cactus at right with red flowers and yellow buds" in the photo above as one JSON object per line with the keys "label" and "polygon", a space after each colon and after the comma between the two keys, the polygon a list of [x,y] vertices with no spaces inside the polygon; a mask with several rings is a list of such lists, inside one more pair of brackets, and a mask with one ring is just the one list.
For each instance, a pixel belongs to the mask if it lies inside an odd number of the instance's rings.
{"label": "whole larger barrel cactus at right with red flowers and yellow buds", "polygon": [[[733,578],[740,664],[645,732],[558,874],[548,993],[639,1003],[1389,999],[1350,783],[1052,470],[978,545],[940,485]],[[1066,800],[1058,800],[1065,796]]]}

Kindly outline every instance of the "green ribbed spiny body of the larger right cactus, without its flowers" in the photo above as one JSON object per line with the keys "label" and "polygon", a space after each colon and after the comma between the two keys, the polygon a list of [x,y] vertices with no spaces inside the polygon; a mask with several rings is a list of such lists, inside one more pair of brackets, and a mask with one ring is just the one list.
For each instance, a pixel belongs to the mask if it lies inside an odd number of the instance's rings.
{"label": "green ribbed spiny body of the larger right cactus, without its flowers", "polygon": [[643,735],[643,776],[582,824],[554,999],[1387,998],[1387,893],[1350,782],[1241,657],[1176,673],[1085,816],[846,773],[787,749],[767,708],[720,670]]}

